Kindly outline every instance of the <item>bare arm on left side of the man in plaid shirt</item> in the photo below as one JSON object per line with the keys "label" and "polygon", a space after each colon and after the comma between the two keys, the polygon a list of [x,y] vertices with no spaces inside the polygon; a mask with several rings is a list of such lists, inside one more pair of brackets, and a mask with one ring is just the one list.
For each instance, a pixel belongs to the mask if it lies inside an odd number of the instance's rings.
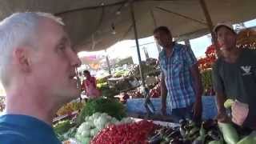
{"label": "bare arm on left side of the man in plaid shirt", "polygon": [[166,114],[166,97],[167,97],[167,88],[165,82],[165,75],[162,73],[161,77],[161,98],[162,98],[162,114]]}

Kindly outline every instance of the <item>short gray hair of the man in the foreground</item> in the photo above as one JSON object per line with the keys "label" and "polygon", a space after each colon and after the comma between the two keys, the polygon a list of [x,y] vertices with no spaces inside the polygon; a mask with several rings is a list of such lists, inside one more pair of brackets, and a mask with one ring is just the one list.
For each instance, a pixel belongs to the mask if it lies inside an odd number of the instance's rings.
{"label": "short gray hair of the man in the foreground", "polygon": [[34,45],[40,20],[50,18],[64,26],[61,18],[42,12],[15,13],[0,22],[0,78],[3,85],[8,83],[8,65],[11,53],[22,45]]}

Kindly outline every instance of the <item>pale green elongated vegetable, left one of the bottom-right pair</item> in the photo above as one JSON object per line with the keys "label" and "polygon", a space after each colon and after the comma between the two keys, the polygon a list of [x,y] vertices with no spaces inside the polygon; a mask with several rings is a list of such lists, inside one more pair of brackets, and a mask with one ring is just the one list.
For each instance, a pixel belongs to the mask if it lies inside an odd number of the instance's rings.
{"label": "pale green elongated vegetable, left one of the bottom-right pair", "polygon": [[231,123],[218,122],[218,127],[227,144],[236,144],[239,141],[238,132]]}

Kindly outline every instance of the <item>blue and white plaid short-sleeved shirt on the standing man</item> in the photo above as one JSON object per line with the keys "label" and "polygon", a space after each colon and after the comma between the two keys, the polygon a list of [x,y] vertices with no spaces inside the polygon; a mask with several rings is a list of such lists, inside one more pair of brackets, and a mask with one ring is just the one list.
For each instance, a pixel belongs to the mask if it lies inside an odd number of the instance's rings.
{"label": "blue and white plaid short-sleeved shirt on the standing man", "polygon": [[197,63],[197,59],[190,47],[175,43],[170,57],[166,57],[165,50],[160,52],[159,62],[165,76],[167,104],[172,109],[192,105],[195,101],[195,90],[190,67]]}

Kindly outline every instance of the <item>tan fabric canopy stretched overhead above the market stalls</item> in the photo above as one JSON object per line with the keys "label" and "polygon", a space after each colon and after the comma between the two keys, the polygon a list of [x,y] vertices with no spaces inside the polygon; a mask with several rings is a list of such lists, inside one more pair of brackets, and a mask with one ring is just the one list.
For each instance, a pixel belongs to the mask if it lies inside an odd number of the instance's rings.
{"label": "tan fabric canopy stretched overhead above the market stalls", "polygon": [[[205,2],[214,24],[256,18],[255,0]],[[2,0],[0,19],[27,10],[62,17],[78,51],[103,50],[134,39],[128,0]],[[196,38],[208,31],[199,0],[134,0],[134,14],[138,38],[152,35],[156,26],[168,26],[175,38]]]}

